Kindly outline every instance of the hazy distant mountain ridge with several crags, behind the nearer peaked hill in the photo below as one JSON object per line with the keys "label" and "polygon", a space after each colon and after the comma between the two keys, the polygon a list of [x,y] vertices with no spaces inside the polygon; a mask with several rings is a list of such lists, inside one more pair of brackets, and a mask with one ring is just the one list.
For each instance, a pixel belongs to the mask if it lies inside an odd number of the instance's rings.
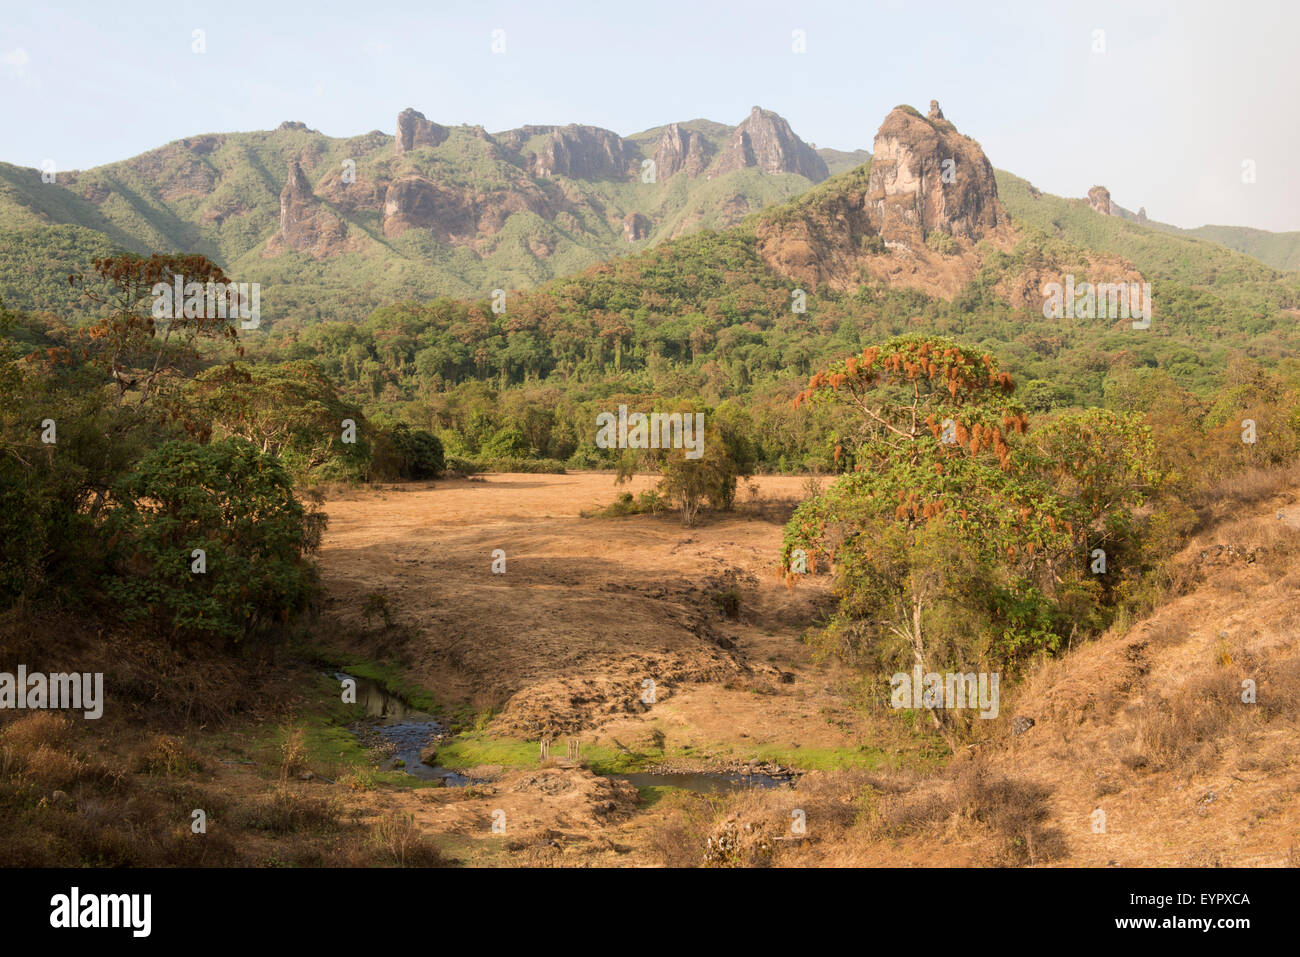
{"label": "hazy distant mountain ridge with several crags, behind the nearer peaked hill", "polygon": [[[0,295],[66,309],[61,274],[113,247],[200,252],[260,281],[281,317],[529,287],[724,229],[829,176],[758,107],[736,127],[697,120],[632,137],[581,125],[489,134],[415,109],[394,129],[204,134],[53,183],[0,164]],[[858,159],[827,152],[837,168]]]}

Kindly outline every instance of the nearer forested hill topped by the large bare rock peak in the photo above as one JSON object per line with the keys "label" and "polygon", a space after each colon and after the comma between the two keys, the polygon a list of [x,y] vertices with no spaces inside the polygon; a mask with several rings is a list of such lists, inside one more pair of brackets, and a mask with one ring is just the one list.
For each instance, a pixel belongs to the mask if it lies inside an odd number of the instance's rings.
{"label": "nearer forested hill topped by the large bare rock peak", "polygon": [[[729,144],[688,124],[645,140],[685,160],[701,152],[689,133]],[[874,151],[728,229],[511,291],[502,311],[413,295],[364,317],[273,322],[250,354],[317,363],[368,413],[473,433],[458,454],[576,467],[607,463],[585,426],[597,406],[698,398],[753,416],[759,460],[832,468],[829,436],[790,400],[812,372],[905,333],[996,354],[1031,412],[1123,406],[1140,389],[1195,402],[1180,390],[1300,373],[1296,273],[1045,194],[996,169],[933,103],[892,111]],[[1074,290],[1069,315],[1052,315],[1053,283]]]}

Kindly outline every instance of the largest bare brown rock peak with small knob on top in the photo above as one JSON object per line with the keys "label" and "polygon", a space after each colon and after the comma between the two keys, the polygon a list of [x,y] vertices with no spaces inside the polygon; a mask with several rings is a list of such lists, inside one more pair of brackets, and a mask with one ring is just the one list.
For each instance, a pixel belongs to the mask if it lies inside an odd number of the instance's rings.
{"label": "largest bare brown rock peak with small knob on top", "polygon": [[1005,221],[993,165],[941,118],[894,107],[876,133],[867,212],[887,242],[913,246],[935,230],[975,242]]}

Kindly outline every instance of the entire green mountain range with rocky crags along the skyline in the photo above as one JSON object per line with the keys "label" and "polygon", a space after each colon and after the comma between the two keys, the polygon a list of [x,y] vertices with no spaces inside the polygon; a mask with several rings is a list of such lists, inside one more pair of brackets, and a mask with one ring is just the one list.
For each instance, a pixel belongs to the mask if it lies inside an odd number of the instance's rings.
{"label": "entire green mountain range with rocky crags along the skyline", "polygon": [[[885,287],[954,302],[987,287],[1040,312],[1044,285],[1072,274],[1156,282],[1157,312],[1216,303],[1231,324],[1296,308],[1284,274],[1130,213],[1105,187],[1063,199],[994,170],[935,101],[927,114],[893,109],[874,160],[814,150],[757,107],[734,127],[690,120],[629,137],[581,125],[490,134],[415,109],[394,126],[348,139],[295,122],[207,134],[56,183],[0,164],[0,295],[73,312],[65,277],[95,256],[183,250],[261,282],[269,324],[356,321],[384,303],[536,289],[740,229],[774,283],[823,295]],[[1286,234],[1266,235],[1283,247]]]}

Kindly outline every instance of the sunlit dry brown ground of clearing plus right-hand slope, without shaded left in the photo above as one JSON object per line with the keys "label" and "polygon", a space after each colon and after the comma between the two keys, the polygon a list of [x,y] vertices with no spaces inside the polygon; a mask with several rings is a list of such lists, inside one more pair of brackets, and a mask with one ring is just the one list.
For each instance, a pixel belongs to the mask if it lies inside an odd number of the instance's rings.
{"label": "sunlit dry brown ground of clearing plus right-hand slope, without shaded left", "polygon": [[[493,709],[493,735],[633,748],[658,735],[706,765],[864,739],[905,750],[898,722],[863,715],[849,676],[800,642],[829,606],[827,576],[790,590],[777,573],[803,484],[758,478],[734,515],[697,528],[584,518],[650,485],[597,473],[338,495],[321,555],[329,611],[351,650],[393,653],[439,701]],[[815,771],[796,788],[714,800],[647,800],[584,767],[497,768],[468,789],[348,801],[363,817],[411,814],[467,863],[698,863],[706,845],[715,857],[725,845],[733,863],[1296,863],[1300,615],[1296,573],[1277,557],[1297,516],[1287,494],[1191,542],[1186,594],[1045,663],[1008,696],[996,733],[946,768]],[[1247,559],[1260,544],[1264,558]],[[493,573],[497,549],[504,573]],[[729,592],[734,616],[719,599]],[[391,628],[365,620],[374,593]],[[1245,677],[1268,706],[1234,707]],[[1013,716],[1035,723],[1013,735]],[[792,814],[806,832],[792,833]]]}

